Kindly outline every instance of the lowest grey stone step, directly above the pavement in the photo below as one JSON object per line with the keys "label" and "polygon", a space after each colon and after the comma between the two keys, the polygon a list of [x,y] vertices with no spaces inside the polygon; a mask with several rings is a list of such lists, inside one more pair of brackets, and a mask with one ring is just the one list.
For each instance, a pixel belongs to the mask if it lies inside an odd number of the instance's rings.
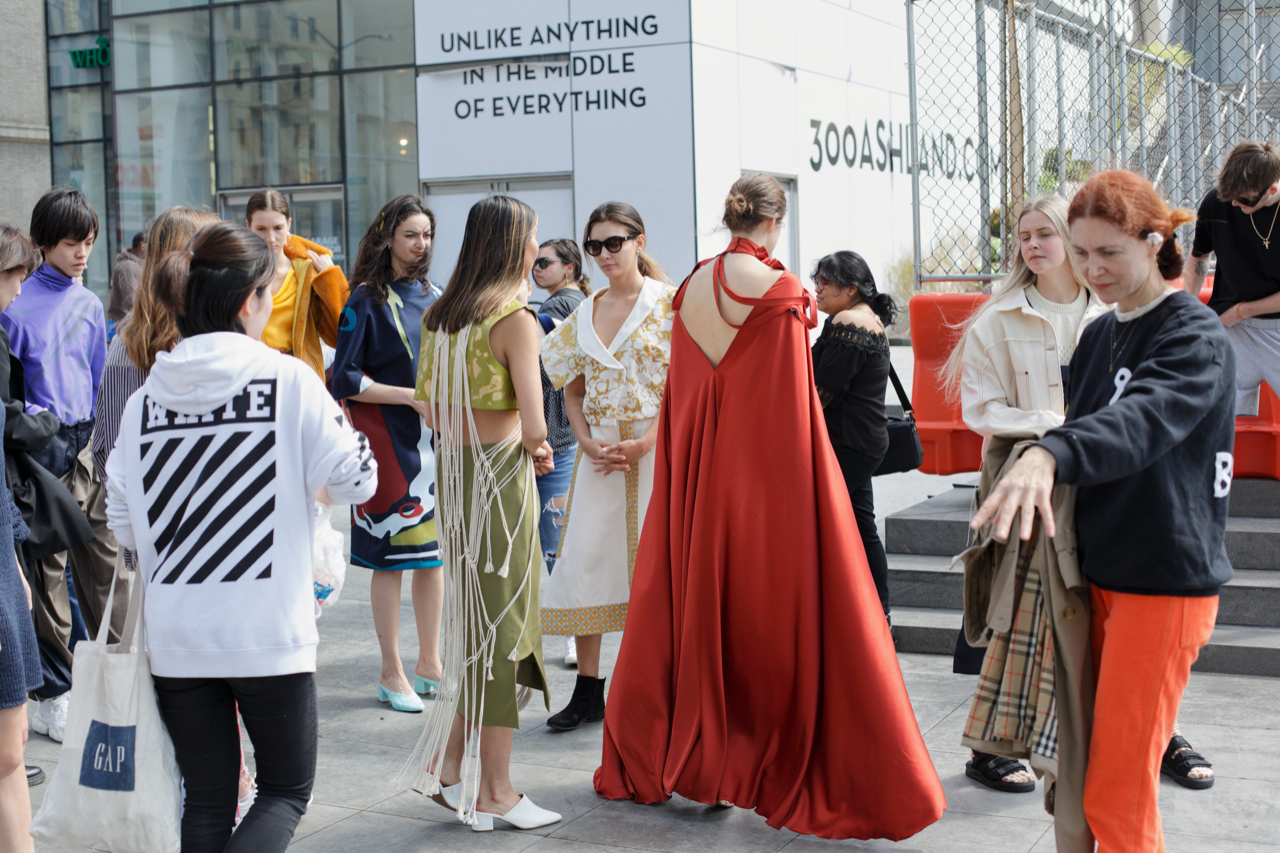
{"label": "lowest grey stone step, directly above the pavement", "polygon": [[[951,656],[959,630],[959,610],[893,607],[899,652]],[[1219,625],[1192,670],[1280,678],[1280,629]]]}

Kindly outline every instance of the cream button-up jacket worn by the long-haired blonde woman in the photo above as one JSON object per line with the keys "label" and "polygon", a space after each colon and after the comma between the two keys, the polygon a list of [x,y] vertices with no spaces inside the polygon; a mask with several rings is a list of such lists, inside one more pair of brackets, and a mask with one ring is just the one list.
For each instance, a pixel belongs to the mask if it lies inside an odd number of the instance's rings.
{"label": "cream button-up jacket worn by the long-haired blonde woman", "polygon": [[[996,297],[964,338],[960,410],[983,438],[1029,438],[1061,426],[1066,414],[1053,327],[1021,288]],[[1089,292],[1084,327],[1111,307]]]}

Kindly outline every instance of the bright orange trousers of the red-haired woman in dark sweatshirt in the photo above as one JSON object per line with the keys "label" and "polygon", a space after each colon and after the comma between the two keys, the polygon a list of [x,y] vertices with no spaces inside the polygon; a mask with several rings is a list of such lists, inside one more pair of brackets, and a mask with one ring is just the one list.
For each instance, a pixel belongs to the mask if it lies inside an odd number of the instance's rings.
{"label": "bright orange trousers of the red-haired woman in dark sweatshirt", "polygon": [[1084,816],[1098,853],[1164,853],[1160,758],[1217,596],[1135,596],[1093,587],[1093,736]]}

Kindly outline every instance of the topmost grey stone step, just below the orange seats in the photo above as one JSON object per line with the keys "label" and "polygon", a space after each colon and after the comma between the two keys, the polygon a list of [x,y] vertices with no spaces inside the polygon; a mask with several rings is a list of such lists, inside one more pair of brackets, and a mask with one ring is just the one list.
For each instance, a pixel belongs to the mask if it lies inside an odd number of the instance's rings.
{"label": "topmost grey stone step, just below the orange seats", "polygon": [[[1271,491],[1270,485],[1247,487],[1245,506],[1262,503],[1257,496]],[[973,489],[956,487],[890,515],[884,519],[886,551],[942,557],[960,553],[969,546],[972,501]],[[1280,516],[1229,517],[1226,556],[1235,569],[1280,570]]]}

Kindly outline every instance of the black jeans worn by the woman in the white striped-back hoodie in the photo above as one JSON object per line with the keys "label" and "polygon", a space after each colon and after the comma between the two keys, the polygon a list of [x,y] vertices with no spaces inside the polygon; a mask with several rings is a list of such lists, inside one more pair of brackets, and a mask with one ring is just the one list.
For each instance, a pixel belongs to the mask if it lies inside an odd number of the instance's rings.
{"label": "black jeans worn by the woman in the white striped-back hoodie", "polygon": [[[316,777],[315,674],[154,680],[187,789],[182,853],[283,853]],[[232,835],[239,781],[237,704],[253,742],[257,799]]]}

